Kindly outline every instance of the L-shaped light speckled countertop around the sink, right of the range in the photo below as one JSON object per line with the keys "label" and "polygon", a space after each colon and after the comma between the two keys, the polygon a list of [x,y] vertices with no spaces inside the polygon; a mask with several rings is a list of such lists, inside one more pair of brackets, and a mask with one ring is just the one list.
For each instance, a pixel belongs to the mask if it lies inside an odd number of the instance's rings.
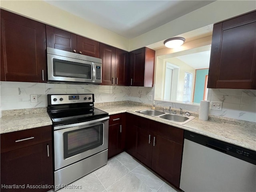
{"label": "L-shaped light speckled countertop around the sink, right of the range", "polygon": [[121,104],[114,106],[97,106],[96,108],[108,112],[108,114],[118,114],[122,112],[128,112],[131,114],[136,114],[144,118],[162,122],[171,126],[182,128],[191,132],[209,136],[224,142],[235,144],[250,150],[256,151],[256,126],[254,123],[241,123],[238,121],[238,125],[229,124],[225,121],[223,122],[213,122],[213,121],[203,121],[199,120],[197,117],[187,122],[184,125],[172,123],[168,120],[156,118],[153,116],[148,116],[140,114],[136,111],[148,109],[146,106],[135,106],[131,104]]}

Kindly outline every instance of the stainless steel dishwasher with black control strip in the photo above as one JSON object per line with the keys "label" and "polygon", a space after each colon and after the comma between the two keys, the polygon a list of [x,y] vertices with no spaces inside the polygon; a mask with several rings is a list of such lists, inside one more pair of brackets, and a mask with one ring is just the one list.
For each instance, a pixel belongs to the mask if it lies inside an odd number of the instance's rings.
{"label": "stainless steel dishwasher with black control strip", "polygon": [[185,131],[180,189],[255,192],[255,164],[255,151]]}

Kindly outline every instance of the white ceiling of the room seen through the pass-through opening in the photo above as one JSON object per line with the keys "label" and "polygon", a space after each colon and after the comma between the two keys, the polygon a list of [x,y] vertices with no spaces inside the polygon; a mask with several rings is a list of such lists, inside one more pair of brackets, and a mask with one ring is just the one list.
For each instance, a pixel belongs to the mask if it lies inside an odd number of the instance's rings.
{"label": "white ceiling of the room seen through the pass-through opening", "polygon": [[192,66],[194,69],[209,68],[210,64],[210,50],[178,56],[177,58]]}

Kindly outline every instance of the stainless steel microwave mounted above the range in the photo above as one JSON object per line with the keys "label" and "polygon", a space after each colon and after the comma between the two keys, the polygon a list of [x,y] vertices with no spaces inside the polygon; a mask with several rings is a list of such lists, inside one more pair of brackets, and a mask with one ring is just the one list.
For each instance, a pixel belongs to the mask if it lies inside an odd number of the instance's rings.
{"label": "stainless steel microwave mounted above the range", "polygon": [[100,58],[47,47],[48,82],[100,84]]}

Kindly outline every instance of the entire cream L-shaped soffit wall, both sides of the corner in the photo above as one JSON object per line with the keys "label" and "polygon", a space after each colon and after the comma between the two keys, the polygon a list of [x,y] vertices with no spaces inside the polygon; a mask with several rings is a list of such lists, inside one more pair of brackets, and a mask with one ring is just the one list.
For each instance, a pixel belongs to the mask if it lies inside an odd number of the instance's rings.
{"label": "entire cream L-shaped soffit wall, both sides of the corner", "polygon": [[131,51],[250,12],[255,10],[256,1],[218,0],[130,40],[60,10],[42,0],[1,0],[0,6],[40,22]]}

